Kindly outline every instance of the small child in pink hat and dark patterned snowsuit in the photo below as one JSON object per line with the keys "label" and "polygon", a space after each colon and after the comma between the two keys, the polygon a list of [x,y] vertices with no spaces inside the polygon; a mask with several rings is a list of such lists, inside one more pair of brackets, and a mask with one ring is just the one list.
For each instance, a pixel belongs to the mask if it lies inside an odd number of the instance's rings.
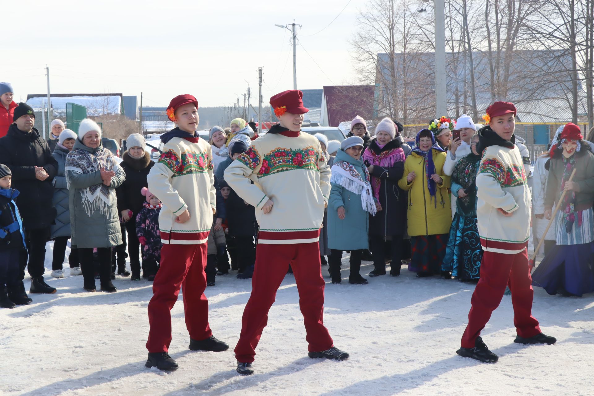
{"label": "small child in pink hat and dark patterned snowsuit", "polygon": [[140,194],[147,198],[136,216],[136,235],[143,247],[143,268],[147,271],[149,281],[153,281],[159,270],[158,264],[161,261],[163,246],[159,233],[159,213],[163,204],[146,187],[140,190]]}

